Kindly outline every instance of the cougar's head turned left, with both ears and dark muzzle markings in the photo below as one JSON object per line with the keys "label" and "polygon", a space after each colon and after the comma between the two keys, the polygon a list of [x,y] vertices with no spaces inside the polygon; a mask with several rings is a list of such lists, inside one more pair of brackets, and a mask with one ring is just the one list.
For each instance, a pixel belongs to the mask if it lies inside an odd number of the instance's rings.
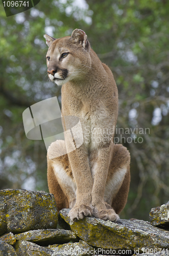
{"label": "cougar's head turned left, with both ears and dark muzzle markings", "polygon": [[47,73],[58,86],[70,80],[82,79],[91,67],[90,44],[87,35],[75,29],[71,36],[55,39],[44,35],[49,49],[46,54]]}

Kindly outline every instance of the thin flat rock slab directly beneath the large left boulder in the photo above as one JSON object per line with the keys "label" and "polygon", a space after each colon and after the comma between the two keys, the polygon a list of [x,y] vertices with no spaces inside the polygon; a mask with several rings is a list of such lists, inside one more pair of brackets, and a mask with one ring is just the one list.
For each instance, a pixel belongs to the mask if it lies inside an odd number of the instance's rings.
{"label": "thin flat rock slab directly beneath the large left boulder", "polygon": [[[70,230],[63,229],[38,229],[15,235],[16,240],[31,241],[38,245],[64,244],[77,241],[77,236]],[[79,240],[79,239],[78,239]]]}

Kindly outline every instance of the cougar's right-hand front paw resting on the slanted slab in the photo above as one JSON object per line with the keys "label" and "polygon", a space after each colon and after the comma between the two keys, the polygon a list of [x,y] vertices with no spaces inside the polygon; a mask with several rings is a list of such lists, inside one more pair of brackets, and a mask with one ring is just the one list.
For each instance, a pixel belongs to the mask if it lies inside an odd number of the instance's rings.
{"label": "cougar's right-hand front paw resting on the slanted slab", "polygon": [[101,220],[109,220],[109,221],[114,221],[117,222],[120,218],[119,215],[116,214],[114,209],[98,209],[98,208],[94,208],[93,211],[93,216],[95,218],[99,218]]}

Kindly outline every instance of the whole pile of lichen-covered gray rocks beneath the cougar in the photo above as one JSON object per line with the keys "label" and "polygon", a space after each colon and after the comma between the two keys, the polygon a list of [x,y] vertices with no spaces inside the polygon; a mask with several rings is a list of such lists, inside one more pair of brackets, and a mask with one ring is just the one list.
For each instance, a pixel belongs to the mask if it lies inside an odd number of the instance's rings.
{"label": "whole pile of lichen-covered gray rocks beneath the cougar", "polygon": [[59,224],[65,229],[57,229],[53,195],[0,190],[0,256],[169,256],[169,205],[151,210],[151,223],[158,227],[136,219],[114,223],[86,217],[73,222],[69,210],[60,211]]}

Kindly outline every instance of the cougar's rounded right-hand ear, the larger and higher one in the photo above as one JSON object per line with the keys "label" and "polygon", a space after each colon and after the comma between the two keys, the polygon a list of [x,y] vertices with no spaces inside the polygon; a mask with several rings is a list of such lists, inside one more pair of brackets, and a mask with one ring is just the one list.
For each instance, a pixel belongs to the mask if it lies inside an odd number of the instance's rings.
{"label": "cougar's rounded right-hand ear, the larger and higher one", "polygon": [[75,43],[80,44],[85,49],[90,46],[86,33],[81,29],[73,30],[71,37]]}

